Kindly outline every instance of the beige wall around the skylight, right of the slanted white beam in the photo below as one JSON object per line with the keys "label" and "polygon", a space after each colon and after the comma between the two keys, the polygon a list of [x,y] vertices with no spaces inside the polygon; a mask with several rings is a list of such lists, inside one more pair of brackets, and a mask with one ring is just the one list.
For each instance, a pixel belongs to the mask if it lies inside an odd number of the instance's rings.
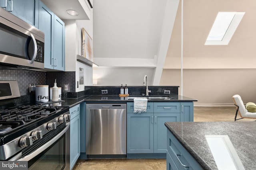
{"label": "beige wall around the skylight, right of the slanted white beam", "polygon": [[[200,4],[200,5],[198,5]],[[230,6],[232,4],[232,6]],[[196,105],[234,106],[232,96],[256,102],[256,1],[184,1],[183,95]],[[228,45],[204,45],[219,11],[246,12]],[[180,83],[181,6],[174,23],[160,85]]]}

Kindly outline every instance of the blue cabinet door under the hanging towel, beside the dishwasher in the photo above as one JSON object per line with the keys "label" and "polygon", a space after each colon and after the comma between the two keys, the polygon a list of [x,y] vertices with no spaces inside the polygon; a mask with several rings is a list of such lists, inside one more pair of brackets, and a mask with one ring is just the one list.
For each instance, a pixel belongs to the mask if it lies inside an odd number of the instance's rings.
{"label": "blue cabinet door under the hanging towel, beside the dishwasher", "polygon": [[153,153],[153,135],[153,113],[127,113],[127,153]]}

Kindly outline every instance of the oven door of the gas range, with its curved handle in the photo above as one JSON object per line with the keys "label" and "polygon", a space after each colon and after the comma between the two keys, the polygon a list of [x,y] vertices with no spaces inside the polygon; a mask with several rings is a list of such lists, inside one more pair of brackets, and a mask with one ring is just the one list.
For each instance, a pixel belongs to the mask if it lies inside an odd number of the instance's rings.
{"label": "oven door of the gas range, with its curved handle", "polygon": [[18,161],[28,161],[28,170],[70,170],[70,122],[58,135]]}

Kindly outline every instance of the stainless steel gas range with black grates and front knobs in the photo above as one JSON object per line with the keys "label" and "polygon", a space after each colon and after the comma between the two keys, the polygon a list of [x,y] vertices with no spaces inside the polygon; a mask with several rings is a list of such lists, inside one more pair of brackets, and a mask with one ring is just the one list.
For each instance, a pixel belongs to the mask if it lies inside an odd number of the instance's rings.
{"label": "stainless steel gas range with black grates and front knobs", "polygon": [[19,93],[16,88],[16,81],[0,81],[0,99],[5,98],[0,100],[0,160],[27,161],[28,169],[69,170],[69,108],[47,104],[9,107],[12,91]]}

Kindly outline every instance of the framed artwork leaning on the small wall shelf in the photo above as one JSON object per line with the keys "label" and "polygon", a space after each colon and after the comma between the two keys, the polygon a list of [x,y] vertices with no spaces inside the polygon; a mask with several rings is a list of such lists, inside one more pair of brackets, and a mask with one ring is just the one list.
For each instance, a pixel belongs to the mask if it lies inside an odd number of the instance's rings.
{"label": "framed artwork leaning on the small wall shelf", "polygon": [[92,38],[84,28],[82,28],[82,57],[93,61]]}

